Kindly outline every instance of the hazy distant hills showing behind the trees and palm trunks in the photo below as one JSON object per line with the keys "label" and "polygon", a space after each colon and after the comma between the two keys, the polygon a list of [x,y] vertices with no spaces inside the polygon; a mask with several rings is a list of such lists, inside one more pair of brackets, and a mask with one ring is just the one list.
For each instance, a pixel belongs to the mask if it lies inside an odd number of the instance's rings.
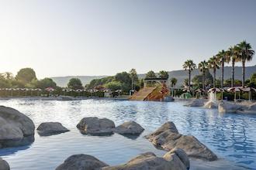
{"label": "hazy distant hills showing behind the trees and palm trunks", "polygon": [[[231,78],[231,71],[232,71],[232,66],[225,66],[224,67],[224,79],[229,79]],[[176,79],[178,79],[178,83],[177,85],[180,86],[182,85],[183,81],[188,78],[188,73],[185,70],[174,70],[174,71],[170,71],[169,73],[169,77],[175,77]],[[213,73],[212,71],[210,71],[210,73]],[[251,74],[256,73],[256,66],[247,66],[245,68],[245,79],[250,78]],[[192,77],[195,75],[199,74],[199,70],[193,70],[192,71]],[[140,78],[144,78],[145,74],[139,74],[138,75]],[[58,86],[60,87],[67,87],[67,83],[68,80],[70,80],[71,78],[78,78],[81,80],[81,82],[83,83],[83,85],[90,83],[91,80],[93,79],[99,79],[99,78],[103,78],[106,76],[56,76],[56,77],[51,77]],[[220,78],[221,77],[221,70],[217,70],[216,71],[216,78]],[[235,79],[241,80],[242,79],[242,67],[241,66],[236,66],[235,67]]]}

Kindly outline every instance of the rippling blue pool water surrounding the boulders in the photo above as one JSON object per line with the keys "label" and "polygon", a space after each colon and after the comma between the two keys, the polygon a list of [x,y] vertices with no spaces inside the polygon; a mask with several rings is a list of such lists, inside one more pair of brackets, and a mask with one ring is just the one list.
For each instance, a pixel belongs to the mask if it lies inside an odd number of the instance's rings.
{"label": "rippling blue pool water surrounding the boulders", "polygon": [[[127,100],[0,100],[0,105],[14,107],[29,116],[37,126],[45,121],[58,121],[71,131],[40,137],[33,144],[0,149],[0,156],[11,169],[55,169],[70,155],[94,155],[109,165],[153,151],[163,155],[146,139],[166,121],[175,122],[182,134],[192,134],[220,158],[237,165],[256,168],[256,115],[218,114],[217,110],[183,107],[182,103],[140,102]],[[137,121],[146,131],[138,138],[88,136],[80,134],[76,124],[82,117],[107,117],[116,125]]]}

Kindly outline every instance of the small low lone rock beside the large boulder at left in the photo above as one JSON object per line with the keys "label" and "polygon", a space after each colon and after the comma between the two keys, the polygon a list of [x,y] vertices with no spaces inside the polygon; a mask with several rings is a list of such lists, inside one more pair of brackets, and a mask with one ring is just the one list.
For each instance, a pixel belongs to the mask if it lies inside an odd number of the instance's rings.
{"label": "small low lone rock beside the large boulder at left", "polygon": [[44,122],[36,129],[40,136],[49,136],[51,134],[61,134],[69,131],[59,122]]}

